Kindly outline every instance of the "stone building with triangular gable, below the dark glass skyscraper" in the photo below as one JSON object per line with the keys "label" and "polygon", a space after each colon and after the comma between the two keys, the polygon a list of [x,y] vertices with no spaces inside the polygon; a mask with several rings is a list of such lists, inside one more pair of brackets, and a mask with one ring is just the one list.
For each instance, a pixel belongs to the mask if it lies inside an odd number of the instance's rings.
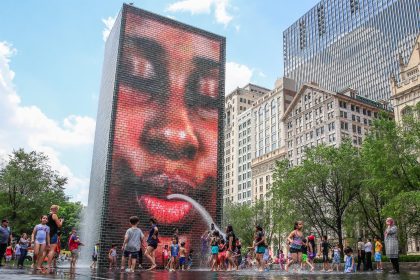
{"label": "stone building with triangular gable, below the dark glass skyscraper", "polygon": [[350,88],[332,92],[315,83],[304,84],[282,118],[290,165],[302,163],[305,149],[320,144],[339,146],[350,138],[359,147],[382,109],[383,104]]}

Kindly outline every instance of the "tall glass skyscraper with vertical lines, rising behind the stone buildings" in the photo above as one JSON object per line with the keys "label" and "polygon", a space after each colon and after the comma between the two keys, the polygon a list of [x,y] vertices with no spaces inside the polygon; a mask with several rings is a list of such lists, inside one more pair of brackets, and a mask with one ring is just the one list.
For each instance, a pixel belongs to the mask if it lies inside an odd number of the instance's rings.
{"label": "tall glass skyscraper with vertical lines, rising behind the stone buildings", "polygon": [[373,100],[391,96],[389,78],[420,32],[419,0],[322,0],[283,32],[284,76],[351,87]]}

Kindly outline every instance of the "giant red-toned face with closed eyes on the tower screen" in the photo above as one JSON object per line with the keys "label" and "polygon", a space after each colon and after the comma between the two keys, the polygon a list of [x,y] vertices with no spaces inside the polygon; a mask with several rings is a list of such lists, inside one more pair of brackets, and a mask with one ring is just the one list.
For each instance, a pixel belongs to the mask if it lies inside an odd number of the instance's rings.
{"label": "giant red-toned face with closed eyes on the tower screen", "polygon": [[[172,21],[128,11],[118,88],[109,207],[126,228],[158,221],[160,245],[174,228],[187,247],[199,244],[220,207],[218,141],[224,40]],[[169,199],[169,195],[175,196]],[[189,201],[193,199],[197,202]],[[123,234],[123,233],[122,233]],[[146,234],[147,235],[147,234]]]}

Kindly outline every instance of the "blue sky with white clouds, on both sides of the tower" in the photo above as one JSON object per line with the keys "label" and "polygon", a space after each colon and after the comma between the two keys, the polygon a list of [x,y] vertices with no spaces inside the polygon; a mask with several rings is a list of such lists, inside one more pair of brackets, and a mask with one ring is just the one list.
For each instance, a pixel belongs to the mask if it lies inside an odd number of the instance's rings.
{"label": "blue sky with white clouds, on both sides of the tower", "polygon": [[[228,91],[272,88],[283,74],[282,32],[316,0],[132,0],[136,7],[226,37]],[[49,155],[87,203],[104,34],[117,0],[0,2],[0,157]],[[107,27],[108,25],[108,27]]]}

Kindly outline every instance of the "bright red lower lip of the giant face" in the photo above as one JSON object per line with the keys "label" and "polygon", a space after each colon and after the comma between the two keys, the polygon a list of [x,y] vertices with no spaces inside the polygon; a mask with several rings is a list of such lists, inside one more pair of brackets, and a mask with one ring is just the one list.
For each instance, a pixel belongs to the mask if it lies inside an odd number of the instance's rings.
{"label": "bright red lower lip of the giant face", "polygon": [[174,224],[183,220],[191,211],[192,205],[185,201],[160,199],[150,195],[137,197],[139,205],[161,224]]}

